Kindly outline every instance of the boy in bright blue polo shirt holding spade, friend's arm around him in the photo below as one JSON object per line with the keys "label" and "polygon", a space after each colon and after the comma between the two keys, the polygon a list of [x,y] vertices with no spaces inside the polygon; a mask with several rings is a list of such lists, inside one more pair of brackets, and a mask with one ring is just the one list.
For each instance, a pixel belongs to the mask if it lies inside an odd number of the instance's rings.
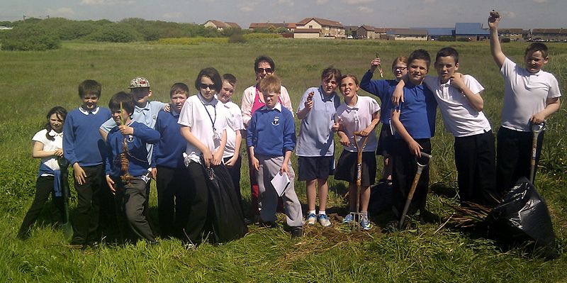
{"label": "boy in bright blue polo shirt holding spade, friend's arm around him", "polygon": [[[425,50],[415,50],[408,58],[408,82],[403,87],[403,99],[392,112],[396,142],[393,146],[393,210],[401,216],[405,200],[417,172],[416,158],[421,152],[431,153],[430,138],[435,134],[437,101],[430,89],[422,84],[429,71],[431,57]],[[425,201],[429,186],[429,168],[426,167],[417,184],[408,215],[420,210],[425,216]],[[422,220],[422,219],[421,219]]]}

